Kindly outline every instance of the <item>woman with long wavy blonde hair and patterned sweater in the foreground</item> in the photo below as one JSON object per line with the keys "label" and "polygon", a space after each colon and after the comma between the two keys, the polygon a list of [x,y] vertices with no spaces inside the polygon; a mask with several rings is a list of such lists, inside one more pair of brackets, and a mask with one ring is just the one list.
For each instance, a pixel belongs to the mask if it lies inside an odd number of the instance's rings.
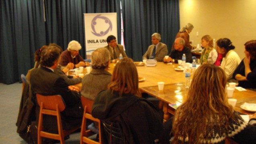
{"label": "woman with long wavy blonde hair and patterned sweater in the foreground", "polygon": [[[213,64],[198,67],[186,101],[173,118],[172,144],[223,143],[230,137],[238,143],[256,142],[256,114],[249,124],[233,111],[225,95],[224,71]],[[202,85],[204,85],[202,87]]]}

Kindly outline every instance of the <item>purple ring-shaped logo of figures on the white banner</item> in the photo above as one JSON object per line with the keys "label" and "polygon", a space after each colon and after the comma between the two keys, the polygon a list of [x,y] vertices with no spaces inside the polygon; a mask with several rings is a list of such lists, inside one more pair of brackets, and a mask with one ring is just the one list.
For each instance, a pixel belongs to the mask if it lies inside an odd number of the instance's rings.
{"label": "purple ring-shaped logo of figures on the white banner", "polygon": [[[97,24],[96,20],[100,18],[100,19],[103,19],[105,21],[106,24],[109,24],[107,30],[105,31],[100,31],[99,33],[96,32],[95,30],[95,25]],[[92,28],[92,33],[95,35],[95,36],[98,36],[98,37],[102,37],[104,35],[106,35],[109,30],[112,30],[112,23],[111,21],[109,20],[109,18],[105,17],[105,16],[101,16],[101,14],[98,14],[97,16],[95,16],[93,18],[93,20],[91,21],[91,28]]]}

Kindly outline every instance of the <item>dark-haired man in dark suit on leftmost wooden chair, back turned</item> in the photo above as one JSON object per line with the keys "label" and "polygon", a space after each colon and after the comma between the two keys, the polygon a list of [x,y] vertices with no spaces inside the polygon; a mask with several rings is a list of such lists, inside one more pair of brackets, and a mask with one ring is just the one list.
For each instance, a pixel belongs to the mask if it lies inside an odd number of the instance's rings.
{"label": "dark-haired man in dark suit on leftmost wooden chair, back turned", "polygon": [[[83,107],[78,87],[68,86],[65,80],[54,73],[60,61],[62,49],[54,45],[41,52],[41,67],[31,71],[31,89],[41,95],[61,95],[66,108],[61,112],[62,127],[70,130],[81,126]],[[39,105],[37,105],[39,108]],[[37,112],[38,118],[38,112]],[[43,127],[49,132],[58,132],[56,117],[44,116]]]}

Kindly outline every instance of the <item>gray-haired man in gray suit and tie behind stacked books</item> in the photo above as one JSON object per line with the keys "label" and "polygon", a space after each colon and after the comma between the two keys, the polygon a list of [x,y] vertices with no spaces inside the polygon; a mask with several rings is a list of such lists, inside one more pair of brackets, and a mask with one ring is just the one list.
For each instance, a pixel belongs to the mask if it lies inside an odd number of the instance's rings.
{"label": "gray-haired man in gray suit and tie behind stacked books", "polygon": [[153,45],[150,45],[146,53],[142,56],[142,59],[155,59],[157,61],[163,61],[163,58],[168,53],[167,45],[161,43],[161,35],[154,33],[151,36]]}

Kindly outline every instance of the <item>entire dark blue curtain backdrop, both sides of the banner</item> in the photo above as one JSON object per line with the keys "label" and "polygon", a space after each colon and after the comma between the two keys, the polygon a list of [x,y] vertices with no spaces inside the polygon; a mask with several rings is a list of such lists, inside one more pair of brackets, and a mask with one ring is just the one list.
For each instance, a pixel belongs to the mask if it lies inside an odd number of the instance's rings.
{"label": "entire dark blue curtain backdrop, both sides of the banner", "polygon": [[[171,48],[180,29],[178,0],[121,2],[128,57],[140,61],[154,32]],[[117,12],[121,41],[120,0],[0,0],[0,8],[0,83],[21,82],[20,75],[34,66],[35,51],[49,43],[65,50],[70,41],[79,41],[85,58],[84,13]]]}

